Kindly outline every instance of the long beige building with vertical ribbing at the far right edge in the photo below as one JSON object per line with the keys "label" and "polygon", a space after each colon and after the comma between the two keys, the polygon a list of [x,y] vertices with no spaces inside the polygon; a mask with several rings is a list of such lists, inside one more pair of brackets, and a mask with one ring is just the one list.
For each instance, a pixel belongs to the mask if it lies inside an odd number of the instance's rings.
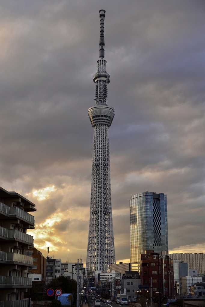
{"label": "long beige building with vertical ribbing at the far right edge", "polygon": [[169,254],[173,260],[183,260],[188,263],[188,269],[197,270],[199,274],[205,274],[205,254],[203,253],[180,253]]}

